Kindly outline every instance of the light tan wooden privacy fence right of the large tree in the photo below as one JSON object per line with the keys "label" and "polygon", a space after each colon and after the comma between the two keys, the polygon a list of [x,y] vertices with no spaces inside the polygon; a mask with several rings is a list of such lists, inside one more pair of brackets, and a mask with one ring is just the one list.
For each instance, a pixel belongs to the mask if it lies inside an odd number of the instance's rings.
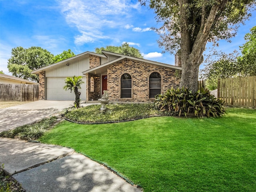
{"label": "light tan wooden privacy fence right of the large tree", "polygon": [[256,76],[218,79],[218,98],[227,105],[256,106]]}

